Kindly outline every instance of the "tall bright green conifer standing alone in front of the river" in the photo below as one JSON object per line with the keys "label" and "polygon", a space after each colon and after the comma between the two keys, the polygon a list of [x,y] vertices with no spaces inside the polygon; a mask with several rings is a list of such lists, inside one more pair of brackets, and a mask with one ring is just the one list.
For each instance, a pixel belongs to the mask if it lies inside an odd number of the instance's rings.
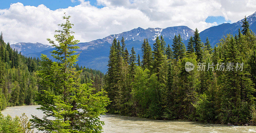
{"label": "tall bright green conifer standing alone in front of the river", "polygon": [[73,67],[79,56],[73,51],[78,48],[75,46],[78,40],[71,35],[74,32],[69,18],[64,16],[66,22],[59,25],[62,30],[55,31],[59,44],[47,39],[55,47],[53,58],[60,63],[41,56],[42,68],[37,72],[42,78],[38,109],[45,115],[42,119],[32,116],[30,121],[34,128],[47,133],[101,132],[104,123],[99,116],[106,112],[108,98],[103,90],[93,92],[92,84],[81,84],[82,71]]}

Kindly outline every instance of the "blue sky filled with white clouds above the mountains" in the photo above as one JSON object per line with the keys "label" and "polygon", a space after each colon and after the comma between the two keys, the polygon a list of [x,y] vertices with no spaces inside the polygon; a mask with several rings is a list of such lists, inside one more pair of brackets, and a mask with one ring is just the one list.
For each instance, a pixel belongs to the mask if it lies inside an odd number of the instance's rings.
{"label": "blue sky filled with white clouds above the mountains", "polygon": [[134,28],[188,26],[199,32],[256,12],[256,0],[0,0],[0,31],[11,44],[54,39],[64,12],[89,42]]}

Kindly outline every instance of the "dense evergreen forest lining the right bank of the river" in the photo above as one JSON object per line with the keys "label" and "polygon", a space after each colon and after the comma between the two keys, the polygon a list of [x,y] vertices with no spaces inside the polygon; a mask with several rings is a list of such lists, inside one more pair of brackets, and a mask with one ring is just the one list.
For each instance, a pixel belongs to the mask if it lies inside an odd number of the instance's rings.
{"label": "dense evergreen forest lining the right bank of the river", "polygon": [[[156,37],[153,49],[142,43],[141,57],[125,48],[124,38],[110,47],[105,90],[110,113],[150,119],[256,123],[256,35],[244,20],[242,32],[226,35],[218,46],[202,43],[198,30],[172,48]],[[187,47],[185,46],[187,45]],[[195,65],[186,71],[187,63]],[[200,71],[199,71],[200,70]],[[204,70],[204,71],[203,71]]]}

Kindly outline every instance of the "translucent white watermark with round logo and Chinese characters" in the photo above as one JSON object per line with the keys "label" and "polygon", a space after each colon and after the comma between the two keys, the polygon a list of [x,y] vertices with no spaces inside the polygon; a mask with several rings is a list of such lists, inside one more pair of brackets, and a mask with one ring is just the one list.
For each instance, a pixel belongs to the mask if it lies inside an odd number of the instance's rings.
{"label": "translucent white watermark with round logo and Chinese characters", "polygon": [[[207,66],[207,67],[206,67]],[[216,69],[215,69],[215,66],[216,66]],[[216,65],[214,65],[213,63],[210,64],[206,64],[206,63],[198,63],[197,64],[197,71],[243,71],[243,66],[244,66],[244,63],[231,63],[231,62],[228,62],[228,63],[217,63]],[[192,70],[194,70],[195,68],[195,65],[191,62],[186,62],[185,64],[185,70],[187,72],[190,72]],[[206,69],[207,68],[207,69]]]}

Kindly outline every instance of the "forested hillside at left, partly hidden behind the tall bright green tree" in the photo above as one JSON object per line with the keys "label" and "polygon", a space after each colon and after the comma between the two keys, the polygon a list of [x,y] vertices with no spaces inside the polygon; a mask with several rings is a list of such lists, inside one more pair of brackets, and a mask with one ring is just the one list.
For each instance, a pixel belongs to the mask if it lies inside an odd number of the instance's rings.
{"label": "forested hillside at left, partly hidden behind the tall bright green tree", "polygon": [[[99,70],[82,67],[76,64],[76,70],[83,70],[81,83],[92,82],[97,90],[103,88],[104,74]],[[38,82],[36,71],[41,68],[39,58],[30,58],[21,55],[12,49],[9,43],[4,43],[0,36],[0,110],[7,106],[34,105],[37,101],[38,89],[42,89]]]}

